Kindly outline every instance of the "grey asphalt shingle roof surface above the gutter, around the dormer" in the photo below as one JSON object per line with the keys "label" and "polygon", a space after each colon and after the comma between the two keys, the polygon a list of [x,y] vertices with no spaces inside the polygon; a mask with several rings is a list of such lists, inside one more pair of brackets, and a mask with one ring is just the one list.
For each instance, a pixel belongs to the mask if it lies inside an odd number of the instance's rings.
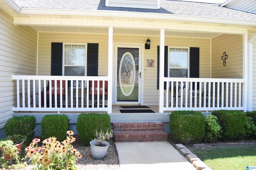
{"label": "grey asphalt shingle roof surface above the gutter, around the dormer", "polygon": [[14,0],[22,8],[46,8],[66,10],[112,10],[142,13],[160,13],[183,16],[202,16],[237,20],[256,20],[256,15],[219,4],[160,0],[160,9],[106,7],[105,0]]}

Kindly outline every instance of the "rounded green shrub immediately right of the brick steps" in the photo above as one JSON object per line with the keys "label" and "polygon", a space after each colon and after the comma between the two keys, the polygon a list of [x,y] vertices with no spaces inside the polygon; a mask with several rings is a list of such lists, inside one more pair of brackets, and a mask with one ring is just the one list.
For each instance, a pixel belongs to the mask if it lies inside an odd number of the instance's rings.
{"label": "rounded green shrub immediately right of the brick steps", "polygon": [[204,138],[205,118],[196,111],[173,111],[169,114],[170,131],[183,143],[199,143]]}

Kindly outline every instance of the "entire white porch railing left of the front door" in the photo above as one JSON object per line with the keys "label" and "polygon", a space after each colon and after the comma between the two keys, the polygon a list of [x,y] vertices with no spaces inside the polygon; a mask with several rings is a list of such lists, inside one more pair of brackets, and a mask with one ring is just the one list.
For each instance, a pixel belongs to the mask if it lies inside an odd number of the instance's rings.
{"label": "entire white porch railing left of the front door", "polygon": [[[13,111],[107,111],[105,96],[100,98],[100,90],[105,93],[107,76],[12,75],[12,80],[17,84],[17,106]],[[98,80],[98,87],[103,81],[103,88],[94,89],[94,80]],[[89,81],[92,81],[90,89]],[[97,96],[89,96],[89,90],[96,90]]]}

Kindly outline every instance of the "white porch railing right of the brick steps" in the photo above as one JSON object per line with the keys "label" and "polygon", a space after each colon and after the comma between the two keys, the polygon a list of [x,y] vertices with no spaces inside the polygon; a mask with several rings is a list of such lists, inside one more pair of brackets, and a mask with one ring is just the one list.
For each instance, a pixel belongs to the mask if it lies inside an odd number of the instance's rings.
{"label": "white porch railing right of the brick steps", "polygon": [[245,109],[244,79],[164,77],[164,83],[164,111]]}

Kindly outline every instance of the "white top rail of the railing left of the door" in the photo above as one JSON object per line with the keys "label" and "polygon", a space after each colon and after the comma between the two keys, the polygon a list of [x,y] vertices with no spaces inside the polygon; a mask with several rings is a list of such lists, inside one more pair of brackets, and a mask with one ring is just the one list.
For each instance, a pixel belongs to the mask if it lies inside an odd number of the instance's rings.
{"label": "white top rail of the railing left of the door", "polygon": [[108,76],[36,76],[36,75],[12,75],[12,80],[108,80]]}

